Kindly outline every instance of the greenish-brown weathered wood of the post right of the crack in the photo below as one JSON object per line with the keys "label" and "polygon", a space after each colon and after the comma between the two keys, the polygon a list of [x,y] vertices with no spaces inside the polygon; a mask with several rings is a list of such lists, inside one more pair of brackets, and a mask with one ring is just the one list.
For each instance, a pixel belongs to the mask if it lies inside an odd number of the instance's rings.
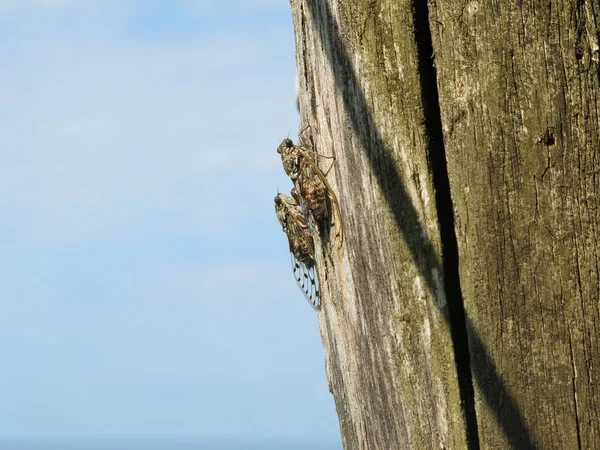
{"label": "greenish-brown weathered wood of the post right of the crack", "polygon": [[599,19],[430,3],[482,448],[600,448]]}

